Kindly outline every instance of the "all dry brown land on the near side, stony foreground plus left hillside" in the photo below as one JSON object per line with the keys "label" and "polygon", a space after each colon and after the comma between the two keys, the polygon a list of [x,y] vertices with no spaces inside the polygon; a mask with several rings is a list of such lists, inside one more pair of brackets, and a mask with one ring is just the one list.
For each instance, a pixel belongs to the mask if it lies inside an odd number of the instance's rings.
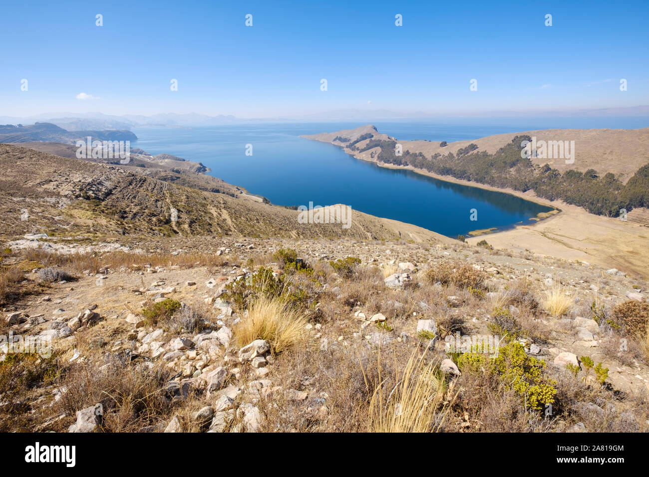
{"label": "all dry brown land on the near side, stony foreground plus left hillside", "polygon": [[637,223],[477,245],[164,165],[0,164],[3,431],[649,431],[649,284],[607,244]]}

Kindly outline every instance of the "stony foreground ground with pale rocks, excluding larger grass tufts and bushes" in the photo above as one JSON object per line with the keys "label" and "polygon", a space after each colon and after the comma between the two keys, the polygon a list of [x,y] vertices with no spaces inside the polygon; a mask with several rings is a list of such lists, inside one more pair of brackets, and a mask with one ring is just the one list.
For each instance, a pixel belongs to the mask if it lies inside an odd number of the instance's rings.
{"label": "stony foreground ground with pale rocks, excluding larger grass tufts and bushes", "polygon": [[[5,265],[33,265],[27,270],[25,285],[42,284],[45,265],[51,267],[52,260],[45,258],[51,252],[36,255],[30,248],[35,244],[47,247],[43,239],[31,236],[7,243],[12,252],[3,259]],[[223,293],[227,284],[251,280],[261,266],[271,267],[277,276],[290,275],[273,258],[281,248],[297,251],[319,275],[317,291],[310,293],[306,287],[311,298],[304,307],[308,316],[304,341],[294,350],[276,352],[269,340],[241,343],[237,339],[237,324],[247,319],[247,312],[228,302]],[[628,278],[624,271],[460,242],[429,246],[343,239],[160,239],[140,247],[139,255],[127,263],[124,256],[134,255],[134,250],[126,242],[86,246],[80,252],[94,256],[92,267],[77,270],[81,263],[72,262],[51,267],[65,269],[76,278],[42,284],[38,291],[6,304],[5,334],[51,338],[54,355],[49,359],[56,360],[53,367],[58,370],[51,379],[27,385],[29,392],[22,395],[0,389],[3,410],[10,416],[6,422],[28,430],[70,432],[105,428],[150,432],[367,430],[362,409],[345,416],[343,391],[337,389],[336,381],[351,379],[345,373],[352,373],[354,366],[363,369],[363,363],[367,366],[376,359],[379,349],[386,356],[394,354],[395,369],[400,368],[397,356],[428,349],[431,356],[444,360],[439,369],[448,385],[465,389],[468,384],[461,380],[468,374],[463,376],[448,359],[440,325],[455,323],[461,335],[488,334],[493,310],[502,305],[524,323],[516,339],[526,354],[544,360],[548,373],[561,383],[569,379],[565,377],[570,374],[565,370],[567,363],[580,366],[583,356],[609,370],[604,384],[592,376],[584,377],[582,384],[574,384],[580,382],[575,380],[571,385],[579,387],[582,400],[571,397],[569,408],[561,406],[561,414],[554,419],[539,418],[539,426],[575,431],[602,430],[602,422],[607,422],[608,430],[646,431],[649,427],[643,404],[649,391],[647,358],[630,344],[625,348],[622,343],[627,339],[601,319],[597,323],[591,308],[594,302],[612,310],[621,302],[647,299],[646,282]],[[80,256],[76,252],[58,249],[53,253]],[[209,256],[210,261],[197,258],[197,253]],[[348,256],[360,259],[350,278],[328,265],[330,260]],[[484,273],[482,293],[456,284],[428,284],[424,280],[427,271],[444,263],[468,264]],[[301,283],[298,276],[293,276],[294,284]],[[520,287],[522,279],[539,302],[544,291],[560,287],[570,302],[567,313],[531,312],[502,300]],[[182,304],[174,315],[182,326],[153,323],[145,317],[147,307],[169,300]],[[198,321],[201,326],[195,326]],[[0,358],[5,363],[10,356],[7,347],[4,343],[5,354]],[[378,356],[381,363],[380,352]],[[136,369],[137,373],[157,373],[159,380],[152,392],[157,393],[160,409],[151,410],[153,405],[147,404],[143,417],[144,411],[132,403],[114,396],[106,402],[98,389],[88,392],[84,385],[90,386],[92,380],[87,376],[88,382],[80,383],[80,370],[86,370],[97,380],[95,387],[117,389],[104,383],[108,376],[101,379],[102,373],[116,373],[116,366],[119,373],[135,373]],[[369,369],[365,373],[371,374]],[[356,379],[362,383],[361,374]],[[72,396],[84,389],[85,398]],[[557,397],[568,400],[562,392]],[[359,406],[367,408],[367,400],[363,402]],[[127,408],[130,420],[121,415]],[[493,430],[484,408],[471,409],[469,404],[458,407],[456,402],[447,430]]]}

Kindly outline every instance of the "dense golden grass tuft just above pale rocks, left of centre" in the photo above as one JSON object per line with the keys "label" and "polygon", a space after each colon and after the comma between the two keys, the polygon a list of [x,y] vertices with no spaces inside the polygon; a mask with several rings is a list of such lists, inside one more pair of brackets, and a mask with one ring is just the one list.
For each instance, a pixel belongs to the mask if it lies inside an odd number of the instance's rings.
{"label": "dense golden grass tuft just above pale rocks, left of centre", "polygon": [[248,316],[234,325],[234,337],[241,346],[255,339],[266,339],[275,352],[293,349],[304,340],[308,318],[281,299],[259,297],[252,303]]}

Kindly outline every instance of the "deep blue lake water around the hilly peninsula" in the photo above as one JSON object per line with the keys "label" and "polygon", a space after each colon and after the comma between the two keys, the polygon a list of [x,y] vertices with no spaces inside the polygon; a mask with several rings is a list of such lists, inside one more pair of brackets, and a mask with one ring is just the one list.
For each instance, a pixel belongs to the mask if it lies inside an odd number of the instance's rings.
{"label": "deep blue lake water around the hilly peninsula", "polygon": [[[400,140],[457,141],[491,134],[553,127],[646,126],[630,118],[512,119],[478,121],[371,121],[379,132]],[[643,118],[641,118],[643,119]],[[550,209],[504,193],[460,186],[411,171],[385,169],[352,158],[334,145],[300,138],[355,128],[367,121],[237,123],[218,127],[134,128],[141,147],[151,154],[174,154],[210,167],[210,175],[267,197],[273,204],[314,206],[347,204],[456,237],[471,230],[511,228]],[[639,124],[639,125],[635,125]],[[252,144],[252,156],[245,155]],[[477,221],[470,220],[471,209]],[[353,215],[352,215],[353,217]]]}

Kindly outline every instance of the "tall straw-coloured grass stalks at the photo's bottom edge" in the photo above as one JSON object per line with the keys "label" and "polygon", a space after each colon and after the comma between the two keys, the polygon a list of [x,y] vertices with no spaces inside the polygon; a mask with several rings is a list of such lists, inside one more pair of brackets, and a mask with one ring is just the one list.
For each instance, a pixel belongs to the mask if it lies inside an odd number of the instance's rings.
{"label": "tall straw-coloured grass stalks at the photo's bottom edge", "polygon": [[[415,349],[397,384],[388,392],[380,382],[369,405],[370,432],[437,432],[450,406],[443,377],[433,361]],[[380,374],[379,374],[380,379]]]}

